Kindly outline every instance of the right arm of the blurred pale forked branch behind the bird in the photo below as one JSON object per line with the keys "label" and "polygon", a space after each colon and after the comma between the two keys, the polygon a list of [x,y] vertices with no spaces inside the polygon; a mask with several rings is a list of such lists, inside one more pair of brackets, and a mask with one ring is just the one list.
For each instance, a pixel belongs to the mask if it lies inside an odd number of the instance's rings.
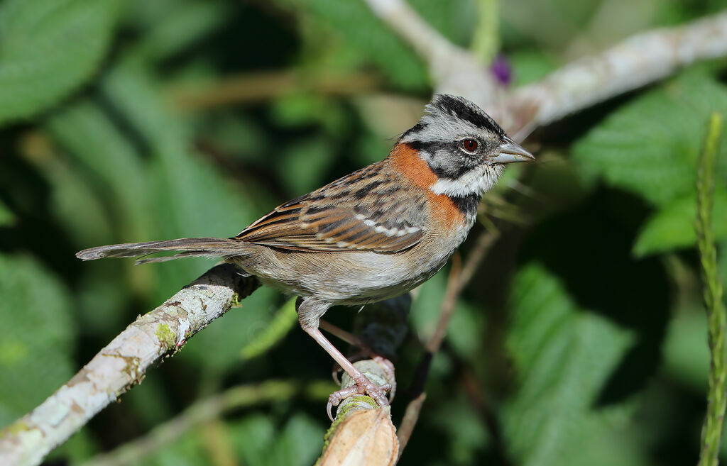
{"label": "right arm of the blurred pale forked branch behind the bird", "polygon": [[726,55],[727,12],[722,12],[683,26],[637,34],[566,65],[542,81],[515,89],[502,102],[502,113],[522,122],[514,125],[517,129],[542,126],[659,81],[686,65]]}

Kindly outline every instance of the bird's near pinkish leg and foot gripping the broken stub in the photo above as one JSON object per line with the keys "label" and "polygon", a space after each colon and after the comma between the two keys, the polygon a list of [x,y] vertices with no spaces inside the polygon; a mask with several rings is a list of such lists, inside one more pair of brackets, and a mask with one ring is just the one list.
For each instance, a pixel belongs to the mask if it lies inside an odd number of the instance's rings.
{"label": "bird's near pinkish leg and foot gripping the broken stub", "polygon": [[335,346],[333,346],[323,333],[321,333],[321,330],[318,330],[318,322],[320,321],[321,316],[326,313],[330,304],[324,301],[318,301],[316,298],[298,298],[295,305],[298,311],[300,327],[308,333],[308,335],[313,337],[313,340],[316,340],[318,345],[321,345],[321,347],[326,350],[326,353],[331,355],[334,361],[336,361],[340,367],[348,373],[355,384],[353,387],[345,388],[331,394],[328,398],[329,417],[331,416],[331,406],[337,406],[343,399],[356,395],[357,393],[371,396],[371,398],[374,398],[379,406],[387,406],[389,401],[386,398],[385,391],[390,389],[390,387],[387,386],[388,384],[379,387],[379,385],[372,383],[368,377],[361,374],[361,371],[356,369],[356,367],[353,367],[351,361],[349,361],[346,356],[343,356],[343,354],[338,351]]}

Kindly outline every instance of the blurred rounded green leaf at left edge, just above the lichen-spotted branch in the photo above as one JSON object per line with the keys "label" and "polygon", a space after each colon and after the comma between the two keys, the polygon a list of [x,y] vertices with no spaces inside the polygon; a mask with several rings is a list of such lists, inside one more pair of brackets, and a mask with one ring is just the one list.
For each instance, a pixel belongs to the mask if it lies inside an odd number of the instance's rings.
{"label": "blurred rounded green leaf at left edge, just above the lichen-spotted branch", "polygon": [[40,404],[73,375],[71,301],[28,256],[0,254],[0,426]]}

